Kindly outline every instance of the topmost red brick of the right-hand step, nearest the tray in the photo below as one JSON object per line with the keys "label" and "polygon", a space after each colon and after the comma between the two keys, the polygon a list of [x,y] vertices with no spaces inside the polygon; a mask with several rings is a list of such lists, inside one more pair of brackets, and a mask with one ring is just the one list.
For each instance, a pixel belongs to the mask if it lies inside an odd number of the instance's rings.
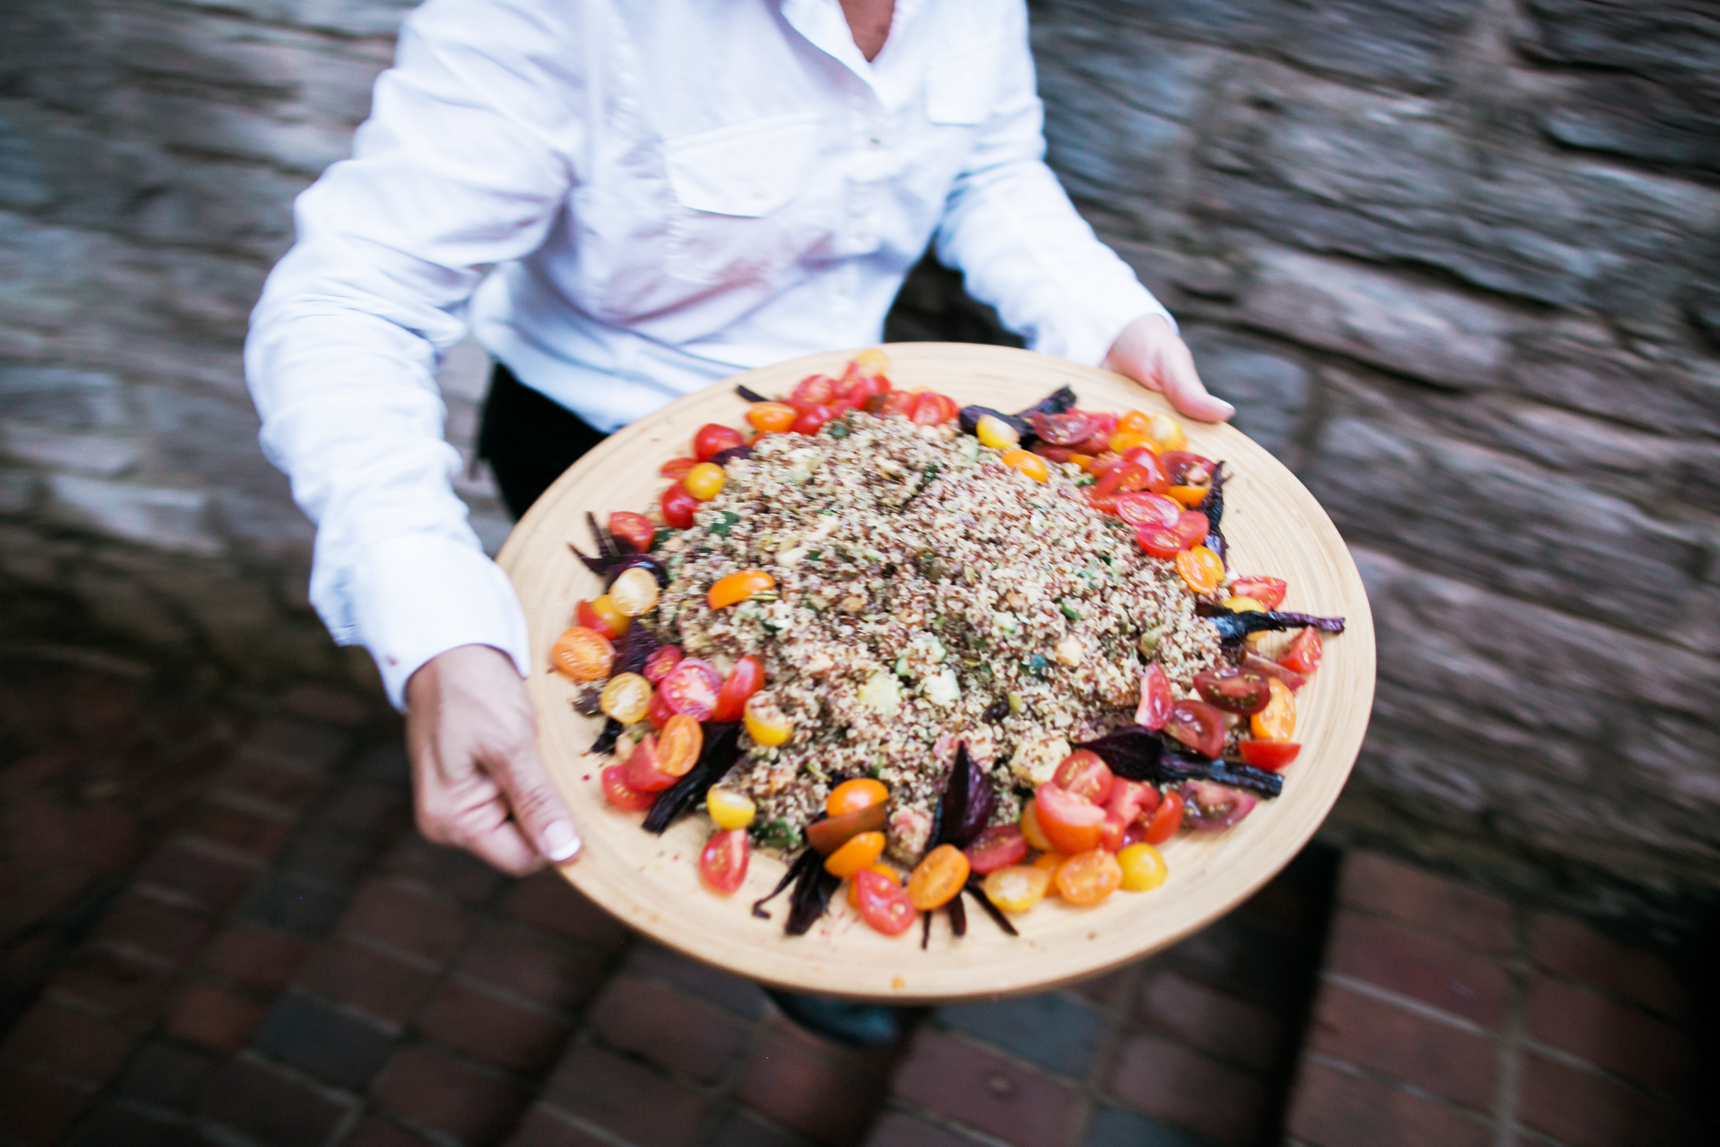
{"label": "topmost red brick of the right-hand step, nearest the tray", "polygon": [[1507,901],[1376,853],[1343,855],[1338,899],[1496,956],[1517,951]]}

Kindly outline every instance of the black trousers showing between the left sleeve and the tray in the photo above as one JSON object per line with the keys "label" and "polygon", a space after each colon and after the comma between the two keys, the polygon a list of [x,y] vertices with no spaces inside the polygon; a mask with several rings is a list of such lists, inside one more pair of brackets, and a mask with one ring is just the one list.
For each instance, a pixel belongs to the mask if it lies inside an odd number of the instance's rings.
{"label": "black trousers showing between the left sleeve and the tray", "polygon": [[607,439],[561,402],[514,378],[501,363],[490,371],[490,394],[478,421],[478,457],[490,464],[502,502],[514,521],[561,473]]}

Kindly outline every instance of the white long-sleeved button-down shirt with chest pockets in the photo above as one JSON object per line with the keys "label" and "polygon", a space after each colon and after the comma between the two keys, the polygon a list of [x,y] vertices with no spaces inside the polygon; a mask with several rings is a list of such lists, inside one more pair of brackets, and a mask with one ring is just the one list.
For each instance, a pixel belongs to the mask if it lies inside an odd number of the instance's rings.
{"label": "white long-sleeved button-down shirt with chest pockets", "polygon": [[936,239],[1034,349],[1097,363],[1164,311],[1042,153],[1022,0],[898,0],[870,64],[838,0],[430,0],[246,342],[263,449],[316,523],[313,605],[396,703],[456,645],[528,671],[442,437],[468,320],[612,430],[877,342]]}

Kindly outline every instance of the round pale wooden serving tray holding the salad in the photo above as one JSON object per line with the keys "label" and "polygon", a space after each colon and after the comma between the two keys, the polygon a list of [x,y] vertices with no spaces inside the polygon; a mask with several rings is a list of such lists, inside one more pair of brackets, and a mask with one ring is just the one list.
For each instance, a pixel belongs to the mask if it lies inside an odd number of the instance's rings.
{"label": "round pale wooden serving tray holding the salad", "polygon": [[[961,404],[1023,409],[1068,383],[1084,409],[1170,411],[1159,396],[1120,375],[1027,351],[939,342],[884,349],[898,389],[931,387]],[[788,937],[786,894],[772,901],[771,920],[748,911],[783,875],[776,856],[755,853],[745,887],[729,898],[716,896],[700,886],[695,863],[710,832],[703,813],[683,817],[659,837],[640,827],[643,813],[617,812],[604,801],[597,774],[609,762],[587,755],[600,721],[580,717],[571,707],[574,684],[549,669],[550,645],[571,624],[574,602],[602,592],[568,543],[595,549],[587,511],[602,521],[609,511],[655,506],[664,487],[657,468],[688,454],[702,425],[743,426],[746,404],[733,383],[786,396],[805,375],[839,375],[850,358],[850,351],[831,351],[746,371],[611,435],[538,499],[502,547],[499,561],[519,592],[531,631],[537,669],[528,688],[544,760],[585,836],[585,850],[562,874],[655,941],[738,975],[903,1004],[996,997],[1077,980],[1173,944],[1235,908],[1295,856],[1338,798],[1373,705],[1374,629],[1355,564],[1314,495],[1240,432],[1190,420],[1180,421],[1192,449],[1230,466],[1225,537],[1232,566],[1285,578],[1285,609],[1343,616],[1348,628],[1328,638],[1324,666],[1297,698],[1302,753],[1285,769],[1283,796],[1261,801],[1235,829],[1183,832],[1166,844],[1170,879],[1163,887],[1116,892],[1090,908],[1046,899],[1015,917],[1018,939],[1004,935],[970,903],[967,935],[955,939],[948,915],[939,913],[927,951],[920,949],[918,927],[884,937],[838,894],[812,932]]]}

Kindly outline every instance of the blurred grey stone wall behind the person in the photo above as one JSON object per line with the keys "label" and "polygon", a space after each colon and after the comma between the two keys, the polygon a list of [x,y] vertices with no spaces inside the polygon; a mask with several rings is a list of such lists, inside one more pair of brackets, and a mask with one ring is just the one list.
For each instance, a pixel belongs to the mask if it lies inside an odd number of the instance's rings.
{"label": "blurred grey stone wall behind the person", "polygon": [[[3,0],[14,640],[351,671],[237,351],[406,7]],[[1591,899],[1720,887],[1720,5],[1034,21],[1053,163],[1367,576],[1379,702],[1333,832]],[[893,330],[992,327],[929,270]],[[480,375],[447,377],[461,442]]]}

